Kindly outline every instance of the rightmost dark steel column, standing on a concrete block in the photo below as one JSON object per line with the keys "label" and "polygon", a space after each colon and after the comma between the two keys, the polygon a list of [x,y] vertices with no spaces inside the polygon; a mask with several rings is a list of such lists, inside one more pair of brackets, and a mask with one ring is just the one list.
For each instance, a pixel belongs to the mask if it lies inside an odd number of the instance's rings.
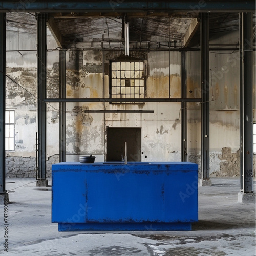
{"label": "rightmost dark steel column, standing on a concrete block", "polygon": [[240,189],[253,192],[252,13],[240,13]]}

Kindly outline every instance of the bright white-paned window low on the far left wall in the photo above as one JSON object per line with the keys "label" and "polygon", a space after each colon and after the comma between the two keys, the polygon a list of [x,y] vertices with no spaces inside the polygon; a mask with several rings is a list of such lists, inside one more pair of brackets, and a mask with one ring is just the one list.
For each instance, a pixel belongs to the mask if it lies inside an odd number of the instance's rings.
{"label": "bright white-paned window low on the far left wall", "polygon": [[14,110],[5,112],[5,150],[14,151]]}

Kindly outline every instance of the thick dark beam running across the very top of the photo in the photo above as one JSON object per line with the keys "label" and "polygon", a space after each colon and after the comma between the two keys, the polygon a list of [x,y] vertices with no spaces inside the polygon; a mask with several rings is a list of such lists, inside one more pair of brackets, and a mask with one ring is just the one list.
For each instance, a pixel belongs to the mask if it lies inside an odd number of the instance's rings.
{"label": "thick dark beam running across the very top of the photo", "polygon": [[255,12],[254,0],[0,1],[1,12]]}

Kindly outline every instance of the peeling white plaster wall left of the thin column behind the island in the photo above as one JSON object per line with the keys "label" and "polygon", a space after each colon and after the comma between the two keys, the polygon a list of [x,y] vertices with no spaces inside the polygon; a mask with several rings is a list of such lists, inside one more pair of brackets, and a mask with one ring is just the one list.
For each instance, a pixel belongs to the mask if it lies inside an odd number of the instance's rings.
{"label": "peeling white plaster wall left of the thin column behind the island", "polygon": [[[49,34],[49,33],[48,33]],[[6,151],[7,177],[35,177],[36,172],[36,130],[37,130],[37,84],[36,84],[36,44],[34,34],[7,31],[6,73],[14,81],[6,78],[6,109],[15,111],[15,151]],[[55,49],[52,36],[47,37],[48,49]],[[27,50],[20,51],[17,50]],[[47,92],[48,97],[58,97],[58,51],[47,53]],[[54,108],[52,108],[52,106]],[[47,108],[47,156],[58,154],[59,112],[58,104]],[[57,161],[57,160],[56,160]],[[55,161],[55,162],[56,162]],[[47,176],[50,165],[47,160]]]}

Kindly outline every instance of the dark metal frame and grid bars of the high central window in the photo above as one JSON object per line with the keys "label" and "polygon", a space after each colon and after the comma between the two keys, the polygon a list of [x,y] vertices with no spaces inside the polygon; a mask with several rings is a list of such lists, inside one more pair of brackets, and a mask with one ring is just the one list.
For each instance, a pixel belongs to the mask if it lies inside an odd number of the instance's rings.
{"label": "dark metal frame and grid bars of the high central window", "polygon": [[[130,63],[130,72],[132,71],[131,70],[131,63],[143,63],[143,71],[142,70],[140,70],[140,68],[139,68],[139,70],[137,70],[137,71],[142,71],[142,77],[140,78],[135,78],[135,77],[125,77],[125,78],[122,78],[122,75],[120,74],[120,93],[117,93],[117,91],[116,91],[116,93],[114,94],[113,93],[113,91],[112,91],[112,88],[113,88],[113,86],[112,86],[112,79],[118,79],[117,77],[116,78],[112,78],[112,63],[127,63],[127,62],[129,62]],[[109,97],[112,99],[116,99],[116,98],[118,98],[117,97],[117,95],[120,95],[120,99],[121,98],[146,98],[146,63],[145,63],[145,61],[144,60],[142,60],[142,59],[126,59],[126,60],[111,60],[110,62],[109,62]],[[117,71],[117,70],[114,70],[114,71]],[[125,71],[126,71],[126,69],[125,69]],[[136,72],[136,70],[134,70],[135,72]],[[122,72],[122,68],[120,68],[120,72]],[[117,75],[117,74],[116,74]],[[131,76],[131,75],[130,75]],[[127,83],[127,80],[129,80],[129,84],[130,84],[130,86],[125,86],[125,89],[127,88],[127,87],[130,87],[130,93],[122,93],[122,80],[125,80],[125,83]],[[136,80],[138,80],[138,81],[140,81],[140,80],[143,80],[143,91],[142,92],[140,92],[140,88],[142,88],[142,86],[140,86],[140,82],[139,82],[139,86],[136,86],[136,87],[139,87],[139,92],[138,93],[136,93],[136,89],[135,89],[135,85],[134,85],[134,93],[133,92],[131,92],[131,81],[132,80],[134,80],[135,82],[136,82]],[[117,86],[115,86],[116,87],[116,89],[118,88]],[[126,91],[126,90],[125,90]],[[116,95],[116,97],[113,97],[113,95]],[[125,95],[125,97],[122,97],[122,95]],[[130,97],[126,97],[126,96],[130,96]],[[136,95],[138,95],[138,97],[136,97]],[[141,97],[140,95],[143,95],[143,97]],[[115,102],[115,104],[124,104],[124,103],[129,103],[129,102]]]}

